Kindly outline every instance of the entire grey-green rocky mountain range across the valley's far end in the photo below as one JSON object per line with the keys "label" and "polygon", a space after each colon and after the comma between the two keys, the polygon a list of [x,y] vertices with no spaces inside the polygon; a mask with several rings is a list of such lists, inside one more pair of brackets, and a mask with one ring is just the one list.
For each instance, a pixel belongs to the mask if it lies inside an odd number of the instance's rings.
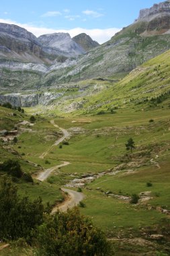
{"label": "entire grey-green rocky mountain range across the valley's far end", "polygon": [[[24,28],[0,24],[0,100],[26,106],[26,100],[18,98],[25,97],[30,102],[27,106],[31,106],[32,100],[22,94],[33,93],[33,105],[42,102],[40,95],[46,95],[50,102],[65,95],[63,90],[79,88],[79,82],[86,79],[116,82],[169,49],[169,1],[140,10],[133,24],[101,45],[86,34],[71,38],[67,33],[54,33],[36,38]],[[47,96],[46,92],[53,89],[56,92]],[[13,93],[19,93],[15,100],[11,100]]]}

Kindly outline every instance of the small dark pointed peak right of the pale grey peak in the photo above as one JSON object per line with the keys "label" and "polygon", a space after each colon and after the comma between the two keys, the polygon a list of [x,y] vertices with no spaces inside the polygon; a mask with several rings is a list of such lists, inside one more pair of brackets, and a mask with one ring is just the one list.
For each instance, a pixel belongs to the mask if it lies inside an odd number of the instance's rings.
{"label": "small dark pointed peak right of the pale grey peak", "polygon": [[85,33],[78,34],[73,37],[73,40],[77,42],[77,44],[81,45],[85,51],[90,51],[91,49],[99,46],[98,42],[92,40],[91,37]]}

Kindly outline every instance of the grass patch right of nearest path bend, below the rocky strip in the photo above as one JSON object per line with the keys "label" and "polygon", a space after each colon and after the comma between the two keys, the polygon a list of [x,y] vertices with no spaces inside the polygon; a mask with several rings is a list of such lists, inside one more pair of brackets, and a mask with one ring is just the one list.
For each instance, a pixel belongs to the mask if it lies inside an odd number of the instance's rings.
{"label": "grass patch right of nearest path bend, below the rocky strip", "polygon": [[81,208],[81,212],[93,218],[97,226],[114,236],[121,229],[124,233],[128,232],[128,228],[135,232],[141,227],[153,226],[165,218],[154,210],[148,211],[144,207],[107,197],[97,191],[83,192],[87,198],[83,200],[86,207]]}

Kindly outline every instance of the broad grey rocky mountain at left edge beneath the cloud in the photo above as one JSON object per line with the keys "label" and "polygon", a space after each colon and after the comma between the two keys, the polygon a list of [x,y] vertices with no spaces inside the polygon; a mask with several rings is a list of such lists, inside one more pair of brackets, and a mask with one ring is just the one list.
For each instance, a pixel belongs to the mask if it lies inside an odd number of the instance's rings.
{"label": "broad grey rocky mountain at left edge beneath the cloud", "polygon": [[[19,26],[0,24],[0,57],[30,61],[33,63],[50,62],[57,53],[50,56],[34,34]],[[45,60],[46,59],[46,60]]]}

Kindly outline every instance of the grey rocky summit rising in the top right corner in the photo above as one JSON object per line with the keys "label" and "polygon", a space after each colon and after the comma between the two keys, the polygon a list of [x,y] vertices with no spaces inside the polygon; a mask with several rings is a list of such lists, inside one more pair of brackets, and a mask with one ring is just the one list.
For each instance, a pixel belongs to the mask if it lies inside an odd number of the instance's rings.
{"label": "grey rocky summit rising in the top right corner", "polygon": [[138,20],[149,22],[153,18],[163,15],[170,15],[170,1],[155,4],[151,8],[141,9]]}

